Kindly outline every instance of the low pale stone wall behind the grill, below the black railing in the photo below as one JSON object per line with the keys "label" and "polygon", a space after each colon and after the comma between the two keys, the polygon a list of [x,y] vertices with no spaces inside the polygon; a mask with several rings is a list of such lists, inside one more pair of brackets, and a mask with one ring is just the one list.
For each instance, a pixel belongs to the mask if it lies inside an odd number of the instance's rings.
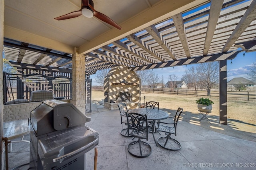
{"label": "low pale stone wall behind the grill, below the black railing", "polygon": [[[61,101],[70,102],[69,99]],[[4,105],[3,121],[6,122],[20,119],[28,119],[30,118],[30,112],[40,104],[42,104],[42,102]]]}

